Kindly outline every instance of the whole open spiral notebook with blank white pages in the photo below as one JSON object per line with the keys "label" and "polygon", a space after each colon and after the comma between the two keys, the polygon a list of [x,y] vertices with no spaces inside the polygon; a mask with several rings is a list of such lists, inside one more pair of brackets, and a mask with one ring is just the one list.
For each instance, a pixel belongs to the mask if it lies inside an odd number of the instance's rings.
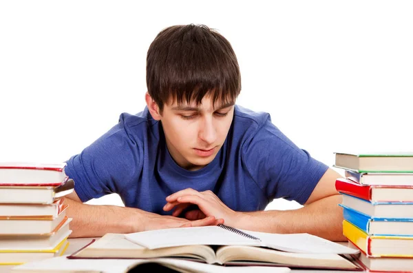
{"label": "whole open spiral notebook with blank white pages", "polygon": [[300,234],[274,234],[237,230],[227,225],[171,228],[125,234],[131,242],[154,250],[180,245],[246,245],[269,247],[275,250],[315,254],[357,254],[357,250],[333,243],[318,236]]}

